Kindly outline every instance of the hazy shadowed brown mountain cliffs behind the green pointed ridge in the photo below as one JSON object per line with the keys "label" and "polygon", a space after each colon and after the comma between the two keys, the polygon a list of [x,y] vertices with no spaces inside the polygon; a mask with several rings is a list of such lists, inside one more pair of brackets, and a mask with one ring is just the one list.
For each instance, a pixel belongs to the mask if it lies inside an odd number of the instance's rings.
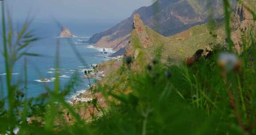
{"label": "hazy shadowed brown mountain cliffs behind the green pointed ridge", "polygon": [[[232,4],[236,0],[230,0]],[[97,33],[89,40],[98,47],[110,47],[118,50],[128,45],[132,32],[133,15],[139,14],[144,24],[164,36],[172,36],[212,17],[223,15],[222,0],[158,0],[149,7],[135,10],[132,16],[115,27]]]}

